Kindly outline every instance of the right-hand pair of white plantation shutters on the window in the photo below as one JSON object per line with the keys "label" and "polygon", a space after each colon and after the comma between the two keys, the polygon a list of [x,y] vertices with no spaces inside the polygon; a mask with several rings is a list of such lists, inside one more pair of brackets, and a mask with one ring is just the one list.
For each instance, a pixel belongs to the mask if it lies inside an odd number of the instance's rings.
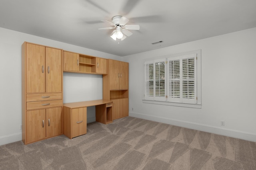
{"label": "right-hand pair of white plantation shutters on the window", "polygon": [[196,54],[168,58],[168,101],[196,103]]}

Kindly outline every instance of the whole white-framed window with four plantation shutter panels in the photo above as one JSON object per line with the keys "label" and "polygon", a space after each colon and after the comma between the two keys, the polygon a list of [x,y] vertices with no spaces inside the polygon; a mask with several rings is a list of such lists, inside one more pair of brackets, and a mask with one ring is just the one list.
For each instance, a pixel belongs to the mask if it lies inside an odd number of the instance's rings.
{"label": "whole white-framed window with four plantation shutter panels", "polygon": [[143,99],[168,102],[168,105],[201,104],[200,59],[201,51],[194,51],[144,61]]}

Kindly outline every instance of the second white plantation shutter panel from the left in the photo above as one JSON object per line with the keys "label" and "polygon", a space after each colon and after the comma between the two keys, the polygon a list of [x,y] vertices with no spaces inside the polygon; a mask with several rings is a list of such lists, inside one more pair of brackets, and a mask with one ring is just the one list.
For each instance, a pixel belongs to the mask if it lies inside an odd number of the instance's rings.
{"label": "second white plantation shutter panel from the left", "polygon": [[157,60],[154,62],[154,100],[158,101],[166,101],[166,87],[165,87],[165,80],[166,80],[166,68],[165,63],[166,59]]}

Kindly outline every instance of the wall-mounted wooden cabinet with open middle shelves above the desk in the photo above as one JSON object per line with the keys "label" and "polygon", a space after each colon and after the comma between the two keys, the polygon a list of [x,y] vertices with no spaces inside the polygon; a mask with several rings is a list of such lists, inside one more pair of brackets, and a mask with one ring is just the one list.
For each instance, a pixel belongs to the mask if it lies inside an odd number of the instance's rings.
{"label": "wall-mounted wooden cabinet with open middle shelves above the desk", "polygon": [[107,74],[107,59],[64,51],[63,71],[88,74]]}

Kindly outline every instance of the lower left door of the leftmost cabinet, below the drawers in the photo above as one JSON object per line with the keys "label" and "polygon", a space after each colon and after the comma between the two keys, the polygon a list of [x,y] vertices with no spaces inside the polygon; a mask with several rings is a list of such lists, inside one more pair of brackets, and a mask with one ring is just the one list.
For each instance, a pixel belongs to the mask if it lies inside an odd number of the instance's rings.
{"label": "lower left door of the leftmost cabinet, below the drawers", "polygon": [[27,111],[27,143],[46,137],[45,109]]}

